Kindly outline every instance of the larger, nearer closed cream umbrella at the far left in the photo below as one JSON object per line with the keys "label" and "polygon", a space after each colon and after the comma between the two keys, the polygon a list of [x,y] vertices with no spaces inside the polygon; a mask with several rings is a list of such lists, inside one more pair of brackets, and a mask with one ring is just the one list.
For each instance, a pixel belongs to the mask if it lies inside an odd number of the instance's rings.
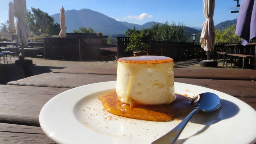
{"label": "larger, nearer closed cream umbrella at the far left", "polygon": [[22,55],[24,56],[24,46],[28,45],[28,39],[30,36],[29,25],[26,21],[26,0],[14,0],[14,15],[17,18],[16,21],[16,43],[22,48]]}

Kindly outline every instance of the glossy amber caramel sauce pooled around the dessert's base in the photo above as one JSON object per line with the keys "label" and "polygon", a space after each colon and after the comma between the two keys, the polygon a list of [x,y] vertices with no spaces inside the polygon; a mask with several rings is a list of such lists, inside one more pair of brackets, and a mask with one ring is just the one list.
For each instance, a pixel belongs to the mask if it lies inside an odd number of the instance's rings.
{"label": "glossy amber caramel sauce pooled around the dessert's base", "polygon": [[167,121],[178,119],[179,116],[187,115],[192,111],[189,106],[189,98],[179,94],[175,95],[176,99],[172,103],[163,105],[134,104],[130,106],[118,99],[116,90],[102,94],[98,99],[109,113],[117,116],[151,121]]}

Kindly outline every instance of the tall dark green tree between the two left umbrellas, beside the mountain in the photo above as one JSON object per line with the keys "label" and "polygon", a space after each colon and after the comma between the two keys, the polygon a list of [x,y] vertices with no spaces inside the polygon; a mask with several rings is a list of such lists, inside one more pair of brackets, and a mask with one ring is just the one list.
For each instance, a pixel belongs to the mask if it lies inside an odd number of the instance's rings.
{"label": "tall dark green tree between the two left umbrellas, beside the mountain", "polygon": [[27,10],[26,20],[32,35],[57,35],[60,32],[60,25],[55,24],[53,17],[40,9]]}

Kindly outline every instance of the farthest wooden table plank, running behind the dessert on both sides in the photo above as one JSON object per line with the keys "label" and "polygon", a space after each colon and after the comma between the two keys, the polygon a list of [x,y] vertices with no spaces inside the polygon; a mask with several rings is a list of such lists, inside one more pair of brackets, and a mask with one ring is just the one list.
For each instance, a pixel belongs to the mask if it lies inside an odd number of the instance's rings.
{"label": "farthest wooden table plank, running behind the dessert on both sides", "polygon": [[[71,74],[117,75],[117,67],[68,67],[53,71]],[[256,81],[256,72],[251,69],[187,69],[174,68],[175,78],[213,79],[213,80],[248,80]]]}

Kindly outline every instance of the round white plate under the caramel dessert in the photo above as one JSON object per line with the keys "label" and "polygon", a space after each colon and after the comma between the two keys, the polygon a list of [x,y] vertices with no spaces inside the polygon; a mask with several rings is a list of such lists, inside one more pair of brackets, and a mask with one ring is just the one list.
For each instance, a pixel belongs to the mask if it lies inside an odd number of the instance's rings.
{"label": "round white plate under the caramel dessert", "polygon": [[[142,144],[151,143],[180,122],[153,122],[108,113],[98,96],[115,87],[116,81],[94,83],[55,96],[40,112],[41,128],[46,135],[61,144]],[[175,82],[175,92],[190,97],[212,92],[221,98],[220,109],[213,113],[196,114],[177,143],[255,142],[256,111],[245,102],[216,90],[178,82]]]}

